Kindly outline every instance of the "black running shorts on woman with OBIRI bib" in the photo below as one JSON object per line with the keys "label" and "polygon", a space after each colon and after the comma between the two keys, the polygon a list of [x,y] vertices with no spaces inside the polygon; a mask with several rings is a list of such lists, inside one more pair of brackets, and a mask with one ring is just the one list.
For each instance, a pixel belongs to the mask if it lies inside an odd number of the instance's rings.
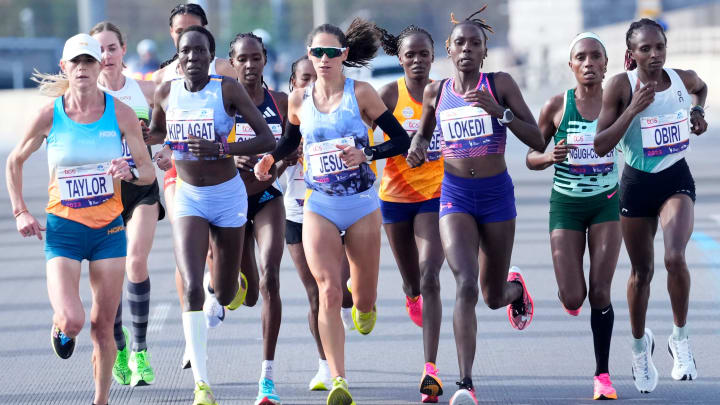
{"label": "black running shorts on woman with OBIRI bib", "polygon": [[695,180],[685,159],[657,173],[625,165],[620,179],[620,215],[657,217],[665,201],[675,194],[685,194],[695,202]]}

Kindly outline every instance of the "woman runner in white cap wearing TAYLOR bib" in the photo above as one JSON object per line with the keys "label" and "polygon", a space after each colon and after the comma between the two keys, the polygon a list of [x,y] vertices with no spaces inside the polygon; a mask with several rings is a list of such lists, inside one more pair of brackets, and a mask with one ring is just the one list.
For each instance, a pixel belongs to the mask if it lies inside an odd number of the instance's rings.
{"label": "woman runner in white cap wearing TAYLOR bib", "polygon": [[[80,299],[81,263],[90,263],[90,338],[94,404],[107,404],[116,346],[113,321],[122,295],[127,241],[120,182],[149,185],[155,179],[137,116],[97,87],[100,44],[87,34],[65,42],[62,74],[37,74],[41,94],[54,100],[40,109],[7,160],[7,188],[18,232],[42,239],[45,228],[22,195],[23,165],[43,143],[50,168],[47,206],[47,285],[53,308],[51,342],[69,358],[85,324]],[[122,158],[122,139],[135,161]]]}

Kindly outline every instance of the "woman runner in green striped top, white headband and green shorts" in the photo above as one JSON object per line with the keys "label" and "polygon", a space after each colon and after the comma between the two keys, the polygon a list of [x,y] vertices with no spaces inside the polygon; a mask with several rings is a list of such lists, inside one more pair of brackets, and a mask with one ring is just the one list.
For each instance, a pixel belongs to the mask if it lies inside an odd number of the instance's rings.
{"label": "woman runner in green striped top, white headband and green shorts", "polygon": [[[618,176],[614,151],[598,156],[592,147],[602,107],[607,54],[600,37],[592,32],[578,34],[568,54],[577,86],[545,103],[539,118],[546,145],[553,139],[555,147],[545,152],[531,148],[526,161],[531,170],[555,167],[550,196],[550,247],[558,297],[572,316],[580,315],[588,297],[595,348],[593,398],[617,399],[608,358],[615,321],[610,287],[622,243]],[[589,289],[583,273],[586,239],[590,250]]]}

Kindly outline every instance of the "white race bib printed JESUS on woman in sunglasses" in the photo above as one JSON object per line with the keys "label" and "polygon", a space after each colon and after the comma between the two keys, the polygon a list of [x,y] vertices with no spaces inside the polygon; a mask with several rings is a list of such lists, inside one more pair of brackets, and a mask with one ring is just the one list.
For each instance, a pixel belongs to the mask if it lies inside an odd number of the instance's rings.
{"label": "white race bib printed JESUS on woman in sunglasses", "polygon": [[340,151],[335,145],[355,147],[355,138],[330,139],[311,143],[306,147],[310,179],[316,183],[336,183],[359,175],[359,166],[348,167],[342,161]]}

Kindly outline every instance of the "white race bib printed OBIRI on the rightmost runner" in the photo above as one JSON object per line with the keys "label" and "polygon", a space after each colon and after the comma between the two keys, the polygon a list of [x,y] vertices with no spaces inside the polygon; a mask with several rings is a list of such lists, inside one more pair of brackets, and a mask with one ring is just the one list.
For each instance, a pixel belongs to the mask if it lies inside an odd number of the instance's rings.
{"label": "white race bib printed OBIRI on the rightmost runner", "polygon": [[645,156],[664,156],[687,149],[690,120],[687,110],[655,117],[640,117]]}

